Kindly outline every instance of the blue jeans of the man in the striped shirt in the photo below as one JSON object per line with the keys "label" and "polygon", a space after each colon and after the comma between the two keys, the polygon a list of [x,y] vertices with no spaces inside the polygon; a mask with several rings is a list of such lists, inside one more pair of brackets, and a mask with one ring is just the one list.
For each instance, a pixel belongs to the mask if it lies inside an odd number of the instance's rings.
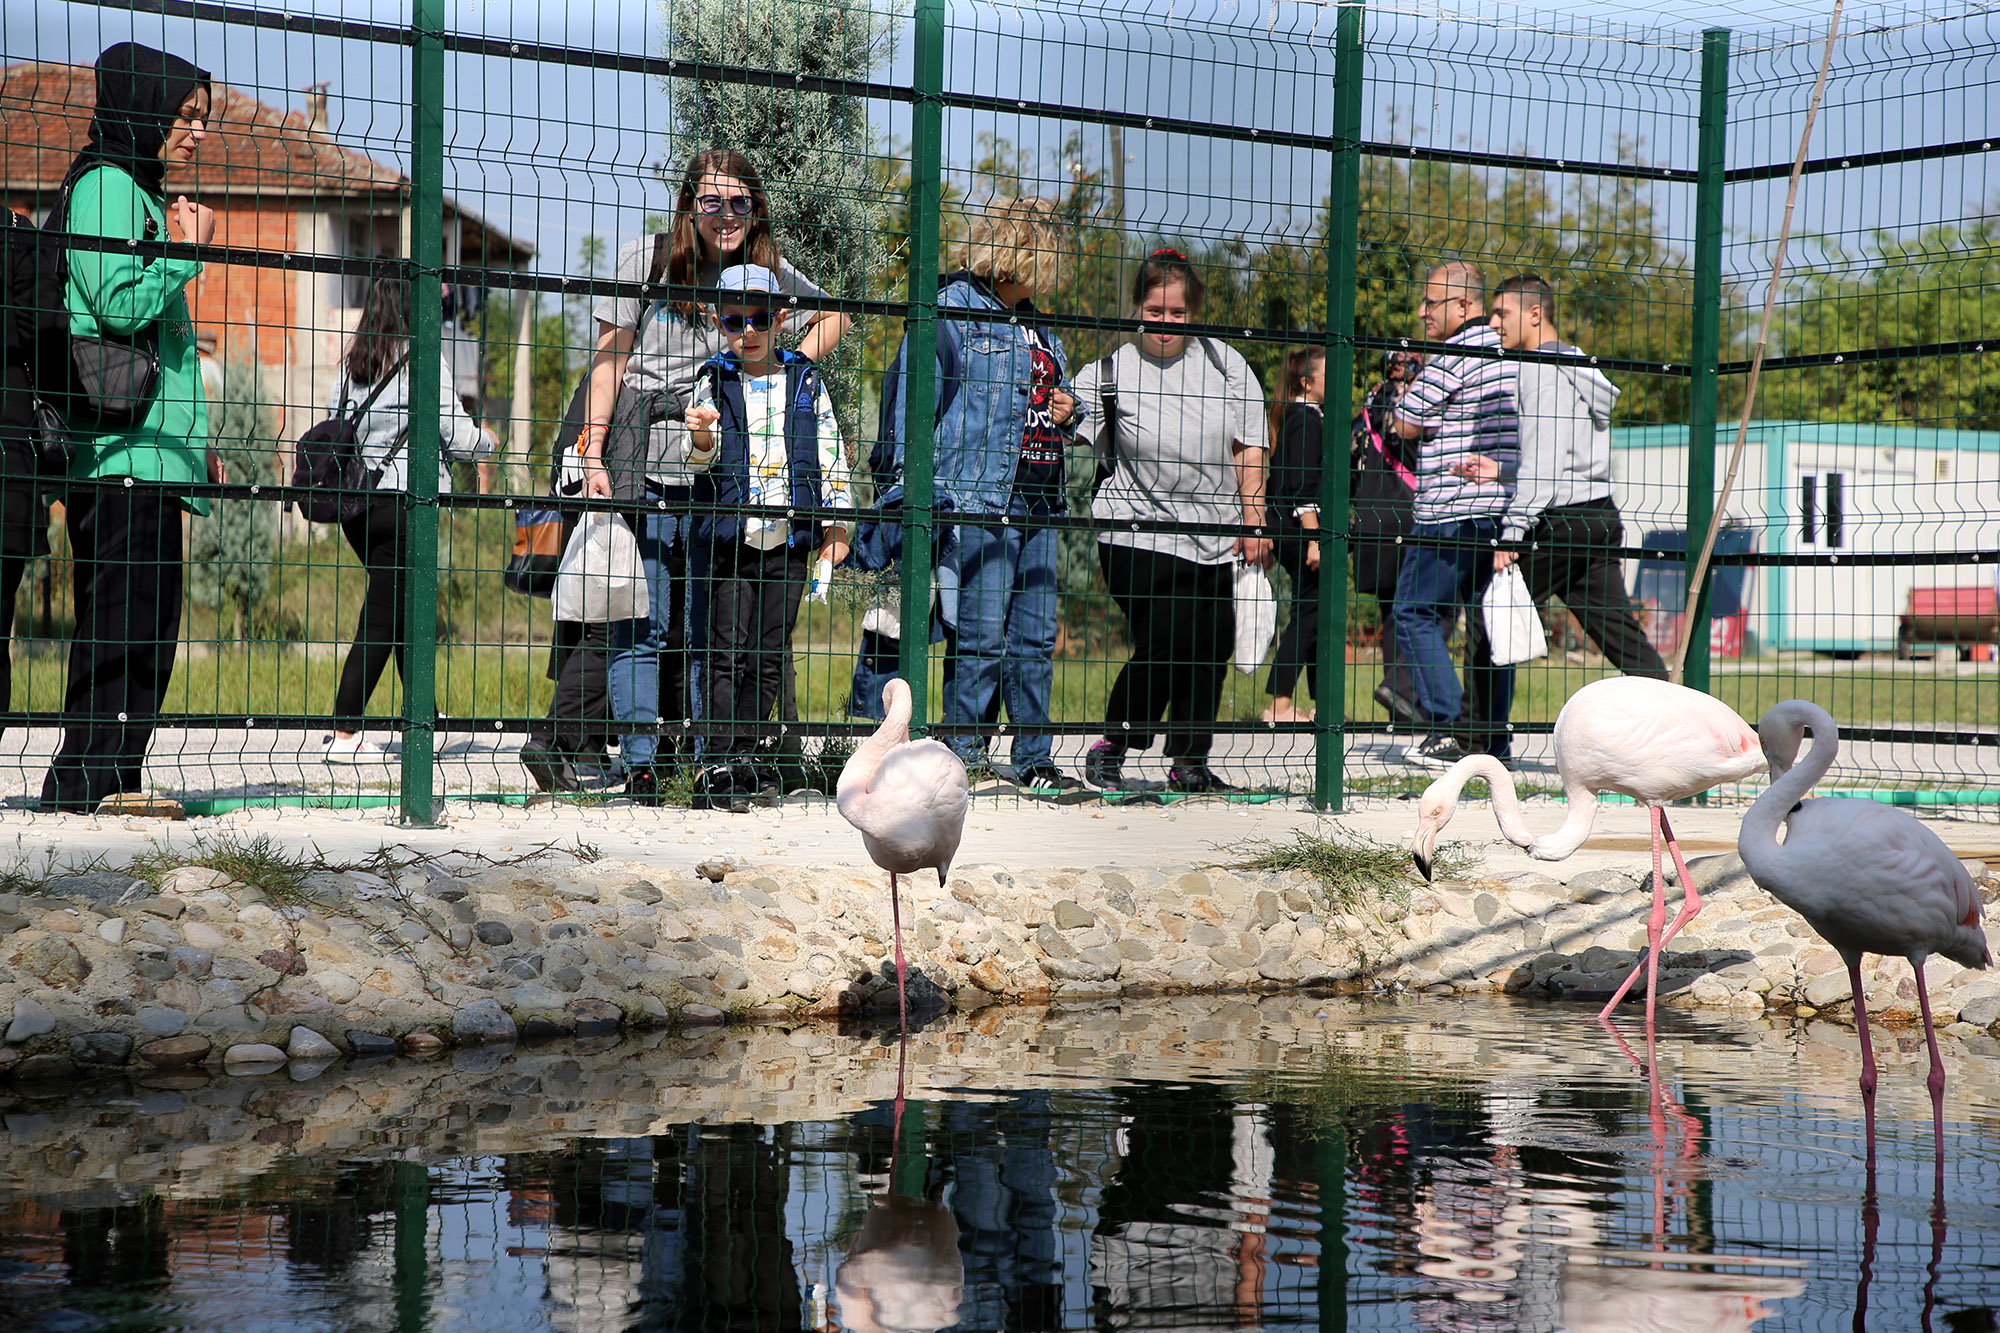
{"label": "blue jeans of the man in the striped shirt", "polygon": [[[1460,522],[1418,522],[1414,540],[1458,538],[1490,542],[1500,534],[1498,518],[1464,518]],[[1458,546],[1434,550],[1406,546],[1396,574],[1396,644],[1402,648],[1416,681],[1416,705],[1442,731],[1458,723],[1464,691],[1452,671],[1450,636],[1460,608],[1470,606],[1472,622],[1466,677],[1472,681],[1474,713],[1470,731],[1496,737],[1486,743],[1496,755],[1506,755],[1506,719],[1514,707],[1514,669],[1494,666],[1480,622],[1480,594],[1494,578],[1492,546]]]}

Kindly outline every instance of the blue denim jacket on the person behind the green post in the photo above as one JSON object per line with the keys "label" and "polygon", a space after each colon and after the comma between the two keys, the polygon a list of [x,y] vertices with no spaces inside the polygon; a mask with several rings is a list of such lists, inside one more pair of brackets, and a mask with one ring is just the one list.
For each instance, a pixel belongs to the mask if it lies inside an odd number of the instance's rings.
{"label": "blue denim jacket on the person behind the green post", "polygon": [[[1028,388],[1034,358],[1020,324],[954,320],[948,310],[1006,310],[984,278],[952,274],[938,292],[938,414],[936,496],[938,508],[998,514],[1006,512],[1020,464],[1020,440],[1028,428]],[[1036,310],[1022,304],[1032,320]],[[1056,330],[1044,328],[1056,356],[1058,384],[1070,388],[1070,362]],[[876,484],[882,504],[902,498],[904,360],[908,336],[882,380],[882,434],[876,450]],[[1070,422],[1074,426],[1074,420]],[[886,464],[886,466],[884,466]]]}

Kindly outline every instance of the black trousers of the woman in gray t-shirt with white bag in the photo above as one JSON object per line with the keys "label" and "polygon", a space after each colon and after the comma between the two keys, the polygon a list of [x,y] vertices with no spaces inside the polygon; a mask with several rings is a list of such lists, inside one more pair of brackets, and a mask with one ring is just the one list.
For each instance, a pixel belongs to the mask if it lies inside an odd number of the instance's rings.
{"label": "black trousers of the woman in gray t-shirt with white bag", "polygon": [[1104,735],[1152,747],[1166,715],[1166,757],[1204,763],[1236,650],[1236,588],[1228,564],[1098,542],[1112,600],[1132,626],[1132,656],[1104,705]]}

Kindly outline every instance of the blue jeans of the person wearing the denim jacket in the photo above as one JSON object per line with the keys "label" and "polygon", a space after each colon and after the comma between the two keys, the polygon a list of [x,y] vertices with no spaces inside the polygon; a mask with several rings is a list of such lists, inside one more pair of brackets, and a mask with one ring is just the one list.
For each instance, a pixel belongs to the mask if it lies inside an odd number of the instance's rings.
{"label": "blue jeans of the person wearing the denim jacket", "polygon": [[[958,526],[954,671],[944,687],[944,725],[960,759],[984,759],[996,693],[1012,723],[1046,723],[1056,683],[1056,532],[1024,526],[1026,506],[1004,528]],[[1014,769],[1046,765],[1052,737],[1016,735]]]}

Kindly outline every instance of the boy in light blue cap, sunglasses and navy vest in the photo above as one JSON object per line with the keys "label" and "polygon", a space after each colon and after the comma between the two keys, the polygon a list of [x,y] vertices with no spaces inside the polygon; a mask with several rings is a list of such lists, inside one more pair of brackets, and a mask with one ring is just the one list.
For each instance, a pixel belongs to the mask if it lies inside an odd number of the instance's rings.
{"label": "boy in light blue cap, sunglasses and navy vest", "polygon": [[[728,350],[708,360],[686,412],[688,464],[700,468],[696,504],[766,512],[702,514],[694,542],[708,566],[708,757],[694,781],[696,809],[748,811],[774,801],[778,773],[758,765],[758,737],[778,703],[784,654],[814,554],[812,518],[794,510],[854,508],[848,458],[810,356],[776,344],[784,288],[762,264],[716,278],[716,322]],[[848,554],[852,524],[824,522],[816,544],[824,580]]]}

